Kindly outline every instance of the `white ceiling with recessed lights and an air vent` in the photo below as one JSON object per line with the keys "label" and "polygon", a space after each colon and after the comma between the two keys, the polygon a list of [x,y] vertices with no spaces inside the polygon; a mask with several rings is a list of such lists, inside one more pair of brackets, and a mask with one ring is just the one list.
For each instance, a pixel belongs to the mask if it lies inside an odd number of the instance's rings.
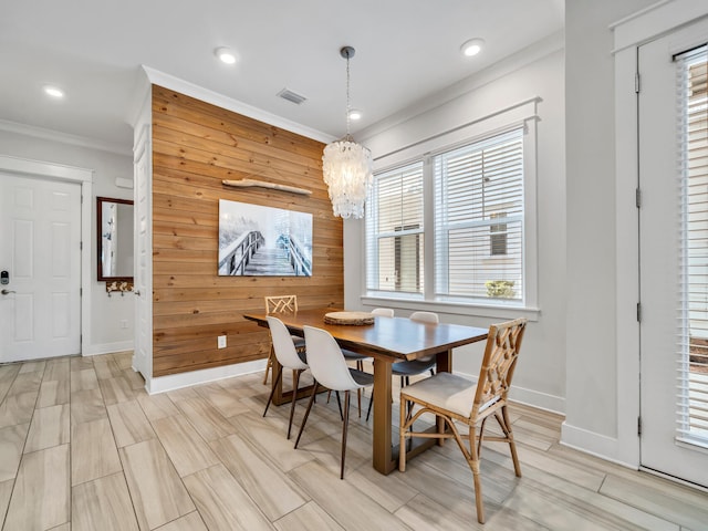
{"label": "white ceiling with recessed lights and an air vent", "polygon": [[[0,128],[24,124],[129,152],[140,65],[281,116],[356,133],[562,30],[563,0],[33,0],[3,2]],[[460,45],[481,38],[483,51]],[[215,50],[237,52],[226,65]],[[66,93],[44,95],[52,83]],[[301,105],[277,94],[306,96]]]}

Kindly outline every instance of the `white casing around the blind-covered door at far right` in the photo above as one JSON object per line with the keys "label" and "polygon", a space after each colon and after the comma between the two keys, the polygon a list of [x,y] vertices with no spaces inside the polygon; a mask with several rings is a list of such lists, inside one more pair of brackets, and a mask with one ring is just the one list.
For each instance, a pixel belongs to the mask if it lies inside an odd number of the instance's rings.
{"label": "white casing around the blind-covered door at far right", "polygon": [[637,50],[639,45],[706,15],[705,1],[664,0],[611,27],[615,45],[617,437],[610,456],[632,468],[641,466]]}

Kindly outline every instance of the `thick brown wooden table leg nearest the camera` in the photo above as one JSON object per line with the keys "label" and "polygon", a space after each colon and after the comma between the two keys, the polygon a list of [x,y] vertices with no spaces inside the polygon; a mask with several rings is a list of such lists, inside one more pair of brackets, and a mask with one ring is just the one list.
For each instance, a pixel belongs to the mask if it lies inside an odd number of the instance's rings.
{"label": "thick brown wooden table leg nearest the camera", "polygon": [[374,358],[374,468],[381,473],[391,473],[396,468],[391,448],[391,362]]}

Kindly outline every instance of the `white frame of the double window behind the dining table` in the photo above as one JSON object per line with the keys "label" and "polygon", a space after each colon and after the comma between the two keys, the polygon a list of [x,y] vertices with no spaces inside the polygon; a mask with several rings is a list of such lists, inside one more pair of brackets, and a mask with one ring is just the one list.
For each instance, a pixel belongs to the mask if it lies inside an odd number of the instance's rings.
{"label": "white frame of the double window behind the dining table", "polygon": [[[447,133],[420,140],[387,155],[377,157],[374,162],[375,175],[395,170],[396,168],[423,162],[424,176],[424,293],[396,293],[368,290],[367,275],[367,231],[362,230],[362,289],[361,302],[365,305],[385,305],[402,310],[437,311],[460,315],[478,315],[506,319],[509,310],[514,314],[537,321],[540,315],[538,308],[538,227],[537,227],[537,105],[540,98],[534,97],[512,105]],[[457,147],[480,143],[490,137],[522,128],[523,143],[523,259],[522,271],[524,279],[521,300],[490,300],[480,302],[464,298],[437,296],[435,294],[435,183],[433,179],[433,157]],[[501,257],[501,256],[500,256]],[[493,260],[497,257],[490,256]]]}

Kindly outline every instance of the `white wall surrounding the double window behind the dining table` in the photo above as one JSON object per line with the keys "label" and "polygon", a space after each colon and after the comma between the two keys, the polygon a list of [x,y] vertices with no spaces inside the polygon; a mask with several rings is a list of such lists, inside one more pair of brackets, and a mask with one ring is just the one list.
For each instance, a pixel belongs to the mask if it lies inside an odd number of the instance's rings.
{"label": "white wall surrounding the double window behind the dining table", "polygon": [[[523,56],[516,56],[470,80],[466,90],[435,108],[398,123],[379,125],[356,135],[374,157],[470,121],[488,116],[532,97],[540,97],[538,114],[538,321],[524,337],[514,376],[514,398],[564,412],[565,404],[565,175],[564,175],[564,53],[562,35],[555,35]],[[460,87],[457,87],[460,92]],[[363,221],[344,222],[345,306],[364,306]],[[391,304],[388,304],[391,305]],[[368,306],[371,308],[371,306]],[[394,308],[396,308],[394,305]],[[439,310],[438,310],[439,311]],[[500,319],[439,312],[444,322],[488,326]],[[410,308],[396,308],[407,315]],[[509,317],[516,316],[509,312]],[[456,372],[477,376],[482,345],[456,351]],[[471,355],[467,355],[471,354]]]}

